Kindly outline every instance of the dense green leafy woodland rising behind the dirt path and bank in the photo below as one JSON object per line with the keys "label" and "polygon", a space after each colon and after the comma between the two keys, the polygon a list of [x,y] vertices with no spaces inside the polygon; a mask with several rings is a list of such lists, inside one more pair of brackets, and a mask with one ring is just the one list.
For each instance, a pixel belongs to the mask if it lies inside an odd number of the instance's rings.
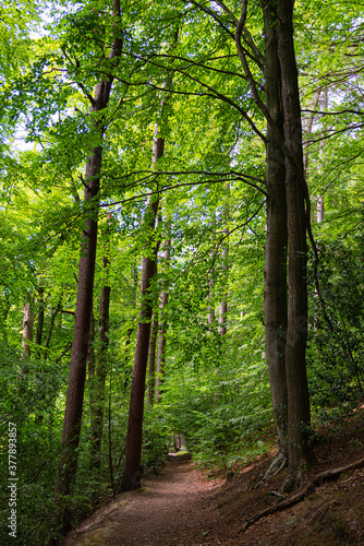
{"label": "dense green leafy woodland rising behind the dirt path and bank", "polygon": [[[294,216],[289,229],[312,233],[294,265],[308,296],[308,320],[300,311],[294,327],[311,406],[295,422],[304,431],[294,449],[307,464],[315,429],[362,403],[363,7],[291,9],[283,0],[0,9],[0,465],[7,476],[12,422],[19,544],[54,539],[100,497],[136,487],[139,464],[158,464],[172,435],[210,472],[270,451],[276,425],[280,452],[284,438],[291,449],[293,420],[280,428],[286,404],[271,403],[264,308],[269,203],[286,211],[284,180],[310,218]],[[301,118],[293,109],[290,136],[294,70],[284,72],[281,36],[291,15]],[[279,149],[272,175],[269,143]],[[290,150],[303,152],[311,211]],[[283,278],[287,247],[286,238]],[[284,360],[292,330],[269,320]],[[280,463],[293,467],[288,451]],[[304,470],[294,472],[296,485]],[[8,510],[3,482],[2,523]],[[5,525],[1,533],[7,544]]]}

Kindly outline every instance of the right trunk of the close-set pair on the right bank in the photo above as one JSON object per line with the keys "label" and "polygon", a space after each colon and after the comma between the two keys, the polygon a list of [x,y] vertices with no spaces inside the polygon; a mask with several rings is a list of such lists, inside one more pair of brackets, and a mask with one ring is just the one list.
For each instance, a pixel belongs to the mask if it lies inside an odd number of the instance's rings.
{"label": "right trunk of the close-set pair on the right bank", "polygon": [[301,106],[293,44],[293,3],[277,2],[278,56],[281,67],[284,112],[286,192],[289,240],[289,316],[286,377],[289,416],[289,475],[284,488],[301,484],[314,462],[310,443],[310,401],[306,377],[307,284],[306,213],[308,193],[304,180]]}

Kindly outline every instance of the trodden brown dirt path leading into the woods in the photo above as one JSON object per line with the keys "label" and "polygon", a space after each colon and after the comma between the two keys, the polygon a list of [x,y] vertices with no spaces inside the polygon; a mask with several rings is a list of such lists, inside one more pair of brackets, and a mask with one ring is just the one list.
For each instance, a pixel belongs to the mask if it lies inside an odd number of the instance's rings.
{"label": "trodden brown dirt path leading into the woods", "polygon": [[185,454],[170,454],[143,489],[117,497],[73,530],[66,546],[199,546],[222,544],[222,515],[211,502],[221,482],[205,478]]}

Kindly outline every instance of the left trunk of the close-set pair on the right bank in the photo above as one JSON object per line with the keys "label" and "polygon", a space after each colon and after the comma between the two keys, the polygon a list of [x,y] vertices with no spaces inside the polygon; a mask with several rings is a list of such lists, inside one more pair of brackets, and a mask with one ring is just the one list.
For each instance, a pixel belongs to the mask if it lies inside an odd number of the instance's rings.
{"label": "left trunk of the close-set pair on the right bank", "polygon": [[[283,135],[283,112],[280,102],[280,64],[278,60],[275,14],[265,9],[265,95],[276,128]],[[287,206],[286,165],[276,133],[267,126],[266,141],[267,236],[264,269],[264,319],[269,385],[278,431],[278,453],[265,477],[288,464],[288,397],[286,381],[287,337]]]}

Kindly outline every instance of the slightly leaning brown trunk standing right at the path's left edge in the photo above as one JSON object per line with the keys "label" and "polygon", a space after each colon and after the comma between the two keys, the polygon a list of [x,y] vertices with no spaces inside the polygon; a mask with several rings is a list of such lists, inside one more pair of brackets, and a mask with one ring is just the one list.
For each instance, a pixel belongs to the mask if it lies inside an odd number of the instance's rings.
{"label": "slightly leaning brown trunk standing right at the path's left edge", "polygon": [[[151,238],[157,216],[158,201],[153,202],[153,197],[148,197],[145,212],[145,225],[149,230],[148,238]],[[144,391],[145,376],[148,360],[150,320],[153,313],[153,295],[150,294],[151,278],[156,274],[157,257],[150,252],[151,241],[146,248],[146,256],[143,258],[142,289],[141,289],[141,311],[136,333],[136,347],[134,355],[134,367],[132,377],[132,390],[129,406],[129,422],[126,434],[125,466],[120,486],[121,491],[136,489],[141,485],[141,456],[143,437],[143,415],[144,415]]]}

